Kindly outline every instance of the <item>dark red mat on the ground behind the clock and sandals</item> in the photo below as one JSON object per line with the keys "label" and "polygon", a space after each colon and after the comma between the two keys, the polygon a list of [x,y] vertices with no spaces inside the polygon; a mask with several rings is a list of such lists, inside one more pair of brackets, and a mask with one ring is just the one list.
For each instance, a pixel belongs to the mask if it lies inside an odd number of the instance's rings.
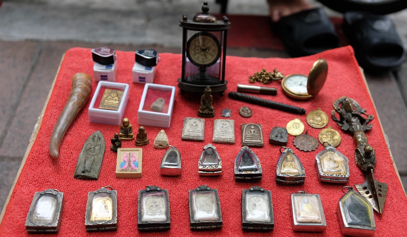
{"label": "dark red mat on the ground behind the clock and sandals", "polygon": [[[214,14],[218,19],[222,15]],[[273,28],[269,16],[257,15],[229,15],[232,27],[228,30],[228,47],[263,48],[272,50],[284,50],[284,45]],[[335,27],[341,46],[349,44],[342,31],[343,18],[330,17],[329,20]]]}

